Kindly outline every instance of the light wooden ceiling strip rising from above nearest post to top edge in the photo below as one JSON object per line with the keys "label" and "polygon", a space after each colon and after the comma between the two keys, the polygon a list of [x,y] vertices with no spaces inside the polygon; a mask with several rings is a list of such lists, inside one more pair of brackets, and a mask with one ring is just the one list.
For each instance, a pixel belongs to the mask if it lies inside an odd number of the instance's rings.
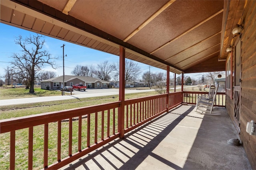
{"label": "light wooden ceiling strip rising from above nearest post to top edge", "polygon": [[160,8],[158,11],[156,11],[150,18],[148,18],[146,21],[144,21],[138,28],[136,28],[130,35],[128,35],[123,41],[126,42],[130,38],[132,38],[138,31],[140,31],[143,27],[145,27],[150,21],[154,20],[159,14],[161,14],[166,8],[168,8],[173,2],[176,0],[170,0],[168,1],[162,8]]}

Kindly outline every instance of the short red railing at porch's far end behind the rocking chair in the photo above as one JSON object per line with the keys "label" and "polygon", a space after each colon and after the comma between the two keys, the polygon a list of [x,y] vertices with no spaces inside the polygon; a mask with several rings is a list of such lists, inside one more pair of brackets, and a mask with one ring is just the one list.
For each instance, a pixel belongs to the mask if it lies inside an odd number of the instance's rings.
{"label": "short red railing at porch's far end behind the rocking chair", "polygon": [[[196,104],[198,96],[208,96],[208,92],[183,92],[183,102],[187,104]],[[218,92],[214,106],[226,107],[226,94]]]}

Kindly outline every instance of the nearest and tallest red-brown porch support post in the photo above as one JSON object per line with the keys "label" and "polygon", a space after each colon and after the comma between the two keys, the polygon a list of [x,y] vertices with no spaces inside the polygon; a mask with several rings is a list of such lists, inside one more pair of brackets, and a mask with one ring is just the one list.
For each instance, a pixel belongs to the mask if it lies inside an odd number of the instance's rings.
{"label": "nearest and tallest red-brown porch support post", "polygon": [[118,132],[120,138],[124,138],[124,88],[125,88],[125,48],[119,48],[119,101],[121,101],[120,107],[118,107]]}

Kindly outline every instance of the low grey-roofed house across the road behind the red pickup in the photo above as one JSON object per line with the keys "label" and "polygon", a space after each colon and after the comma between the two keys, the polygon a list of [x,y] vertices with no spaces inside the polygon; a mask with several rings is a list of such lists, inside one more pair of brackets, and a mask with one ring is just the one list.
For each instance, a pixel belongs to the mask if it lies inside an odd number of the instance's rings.
{"label": "low grey-roofed house across the road behind the red pickup", "polygon": [[[50,78],[41,81],[41,89],[60,90],[62,88],[63,76]],[[99,78],[87,76],[64,76],[64,86],[73,86],[75,84],[86,85],[87,88],[108,88],[110,82],[100,80]]]}

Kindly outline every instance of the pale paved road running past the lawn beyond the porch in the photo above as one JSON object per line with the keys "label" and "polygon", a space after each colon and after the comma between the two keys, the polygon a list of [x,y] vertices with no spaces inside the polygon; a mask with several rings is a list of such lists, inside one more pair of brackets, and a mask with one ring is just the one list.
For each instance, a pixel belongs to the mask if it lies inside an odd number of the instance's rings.
{"label": "pale paved road running past the lawn beyond the porch", "polygon": [[[138,93],[138,92],[150,92],[154,91],[153,89],[149,90],[130,90],[126,89],[125,93]],[[29,104],[29,103],[37,103],[37,102],[49,102],[56,100],[68,100],[74,98],[90,98],[97,96],[110,96],[119,94],[118,89],[88,89],[84,91],[74,91],[72,95],[70,92],[65,92],[64,96],[46,96],[46,97],[35,97],[35,98],[20,98],[20,99],[8,99],[8,100],[0,100],[0,106],[7,106],[13,104]]]}

